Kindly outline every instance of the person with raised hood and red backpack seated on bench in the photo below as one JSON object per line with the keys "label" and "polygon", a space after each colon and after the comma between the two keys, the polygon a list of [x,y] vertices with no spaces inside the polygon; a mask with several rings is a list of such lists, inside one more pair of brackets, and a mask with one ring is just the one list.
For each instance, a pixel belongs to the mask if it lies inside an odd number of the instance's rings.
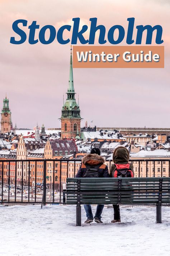
{"label": "person with raised hood and red backpack seated on bench", "polygon": [[[113,152],[113,162],[109,176],[111,178],[134,177],[133,165],[129,163],[129,151],[125,147],[118,147]],[[121,222],[119,205],[113,205],[114,220],[112,223]]]}

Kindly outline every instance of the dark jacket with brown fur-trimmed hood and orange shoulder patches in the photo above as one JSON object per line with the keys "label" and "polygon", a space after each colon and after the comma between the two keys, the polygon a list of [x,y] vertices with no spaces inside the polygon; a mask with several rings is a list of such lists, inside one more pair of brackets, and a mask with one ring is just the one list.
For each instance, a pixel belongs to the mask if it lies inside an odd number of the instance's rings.
{"label": "dark jacket with brown fur-trimmed hood and orange shoulder patches", "polygon": [[76,174],[76,178],[83,177],[86,170],[92,166],[99,168],[99,178],[109,177],[109,170],[107,165],[104,164],[104,158],[98,154],[88,154],[82,158],[82,163],[80,165],[79,171]]}

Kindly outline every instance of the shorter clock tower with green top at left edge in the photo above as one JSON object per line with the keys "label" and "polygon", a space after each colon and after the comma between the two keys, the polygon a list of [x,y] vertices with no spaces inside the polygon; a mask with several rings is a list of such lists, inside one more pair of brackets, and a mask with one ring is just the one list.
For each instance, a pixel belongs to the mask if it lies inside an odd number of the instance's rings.
{"label": "shorter clock tower with green top at left edge", "polygon": [[11,111],[9,108],[9,99],[3,100],[3,109],[1,111],[1,133],[8,133],[13,129],[11,121]]}

